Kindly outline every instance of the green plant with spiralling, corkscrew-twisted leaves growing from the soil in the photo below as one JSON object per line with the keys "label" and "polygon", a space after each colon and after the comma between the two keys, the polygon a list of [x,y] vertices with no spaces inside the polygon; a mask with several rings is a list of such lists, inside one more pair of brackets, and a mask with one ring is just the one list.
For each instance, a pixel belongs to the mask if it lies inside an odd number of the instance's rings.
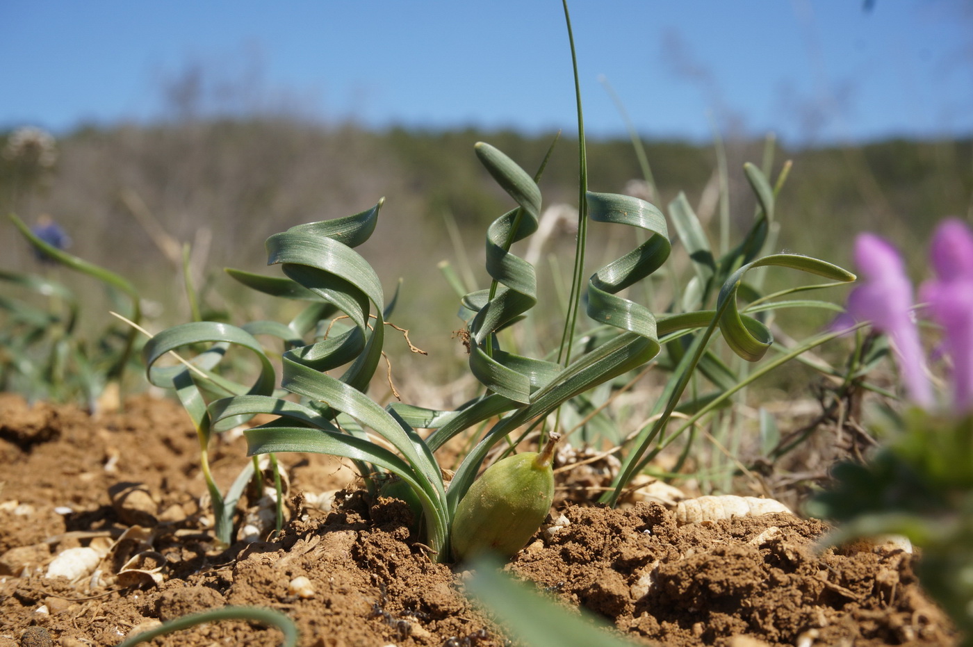
{"label": "green plant with spiralling, corkscrew-twisted leaves growing from the soil", "polygon": [[[582,351],[565,353],[570,359],[561,362],[519,355],[501,348],[497,334],[518,325],[537,303],[535,270],[510,249],[537,229],[540,191],[534,178],[492,146],[478,144],[476,153],[517,202],[487,231],[486,270],[494,280],[493,287],[462,300],[463,311],[471,316],[470,370],[482,383],[482,394],[455,411],[403,403],[382,407],[367,394],[378,368],[391,308],[385,303],[376,272],[354,248],[376,230],[382,207],[379,200],[373,208],[353,216],[300,225],[270,236],[268,261],[280,266],[283,277],[231,270],[234,278],[257,290],[305,301],[307,306],[291,321],[257,321],[240,327],[194,322],[162,331],[146,344],[149,378],[175,389],[197,425],[203,458],[213,432],[256,414],[275,415],[273,421],[245,432],[251,454],[317,451],[343,456],[354,462],[373,491],[378,489],[376,475],[394,474],[408,485],[416,509],[422,511],[419,531],[425,544],[437,559],[448,560],[450,532],[463,532],[453,524],[457,506],[496,443],[515,430],[545,420],[575,396],[637,369],[656,357],[663,343],[685,335],[695,337],[687,359],[673,373],[667,401],[673,407],[715,331],[740,357],[762,357],[772,343],[770,331],[757,317],[741,312],[738,304],[748,270],[783,267],[837,281],[853,278],[846,270],[804,256],[758,257],[773,217],[774,191],[763,174],[748,165],[747,178],[760,204],[754,228],[723,258],[714,260],[710,254],[708,260],[700,261],[707,270],[702,293],[714,295],[715,308],[657,317],[647,306],[619,293],[666,263],[671,247],[665,217],[638,198],[586,192],[585,217],[593,223],[639,229],[645,233],[644,242],[588,278],[586,311],[595,324],[584,333],[572,332],[568,340],[577,344],[583,338]],[[699,228],[691,211],[684,210],[681,218]],[[703,259],[702,254],[694,257]],[[748,288],[746,294],[751,297],[754,292]],[[813,306],[811,302],[804,305]],[[762,306],[767,308],[767,304]],[[336,333],[338,319],[346,326]],[[258,335],[282,344],[279,385],[269,351],[257,341]],[[206,344],[206,349],[190,360],[191,367],[157,366],[169,351],[198,344]],[[221,375],[218,364],[233,345],[258,358],[259,376],[252,383]],[[331,375],[338,370],[342,370],[340,376]],[[494,421],[465,455],[450,484],[444,483],[435,452],[457,434],[490,419]],[[416,429],[430,432],[420,435]],[[653,436],[648,431],[625,457],[618,488],[625,485],[649,447]],[[372,434],[381,437],[381,444],[371,440]],[[508,474],[496,482],[505,485],[495,488],[516,486],[518,476]],[[224,501],[211,479],[208,483],[218,508],[218,532],[229,541],[234,497],[228,495]],[[234,485],[235,494],[240,489]],[[487,488],[481,495],[487,500],[502,499],[508,492]],[[549,507],[550,500],[538,505]],[[513,525],[513,507],[493,506],[489,514],[496,524]],[[469,514],[475,517],[478,512]],[[523,546],[529,534],[506,545]]]}

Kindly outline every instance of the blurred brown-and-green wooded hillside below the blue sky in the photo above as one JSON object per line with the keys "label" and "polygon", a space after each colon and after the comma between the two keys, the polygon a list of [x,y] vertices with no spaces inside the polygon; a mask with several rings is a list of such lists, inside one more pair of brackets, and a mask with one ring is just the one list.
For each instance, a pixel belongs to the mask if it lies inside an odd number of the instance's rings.
{"label": "blurred brown-and-green wooded hillside below the blue sky", "polygon": [[[10,148],[11,135],[0,135],[0,149]],[[204,247],[213,266],[252,269],[269,234],[349,215],[384,196],[379,233],[369,243],[376,265],[434,265],[434,254],[452,249],[446,219],[479,250],[486,224],[512,207],[477,161],[474,144],[487,141],[534,173],[554,139],[555,133],[374,132],[269,119],[87,127],[56,141],[50,169],[32,173],[24,166],[29,160],[0,157],[0,208],[28,221],[50,214],[73,238],[73,251],[120,271],[165,267],[161,232]],[[588,142],[590,188],[638,193],[664,211],[681,191],[703,219],[719,213],[715,145],[650,140],[644,148],[654,195],[646,193],[643,169],[624,139]],[[857,231],[924,244],[939,218],[971,213],[969,139],[796,151],[727,141],[723,150],[727,204],[738,222],[752,217],[754,204],[743,162],[766,165],[770,150],[774,176],[793,162],[777,217],[781,247],[795,252],[847,262]],[[540,185],[546,204],[577,203],[577,142],[570,135],[560,138]],[[6,232],[0,265],[27,263],[13,228]]]}

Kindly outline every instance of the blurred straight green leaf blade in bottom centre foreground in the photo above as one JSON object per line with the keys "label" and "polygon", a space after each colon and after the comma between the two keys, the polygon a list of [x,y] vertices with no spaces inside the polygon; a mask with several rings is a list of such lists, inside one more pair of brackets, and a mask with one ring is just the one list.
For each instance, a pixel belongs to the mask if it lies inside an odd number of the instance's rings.
{"label": "blurred straight green leaf blade in bottom centre foreground", "polygon": [[512,636],[530,647],[634,647],[635,643],[598,627],[598,620],[578,615],[558,603],[531,592],[500,572],[500,563],[482,560],[474,564],[476,575],[466,583],[469,593]]}

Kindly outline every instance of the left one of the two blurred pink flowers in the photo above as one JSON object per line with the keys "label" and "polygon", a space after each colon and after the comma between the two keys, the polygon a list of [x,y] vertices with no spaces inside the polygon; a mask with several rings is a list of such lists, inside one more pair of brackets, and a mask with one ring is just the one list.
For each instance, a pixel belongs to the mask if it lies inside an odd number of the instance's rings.
{"label": "left one of the two blurred pink flowers", "polygon": [[865,280],[848,296],[848,313],[858,321],[870,320],[877,330],[888,335],[898,353],[909,396],[920,407],[928,408],[933,403],[932,387],[913,318],[913,287],[902,259],[883,238],[859,234],[854,260]]}

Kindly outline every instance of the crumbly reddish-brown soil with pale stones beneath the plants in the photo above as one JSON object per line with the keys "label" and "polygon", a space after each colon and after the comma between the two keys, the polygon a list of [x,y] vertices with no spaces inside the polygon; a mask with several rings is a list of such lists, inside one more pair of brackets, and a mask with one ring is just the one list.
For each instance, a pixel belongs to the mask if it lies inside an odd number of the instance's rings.
{"label": "crumbly reddish-brown soil with pale stones beneath the plants", "polygon": [[[245,462],[243,442],[214,446],[226,486]],[[353,489],[325,503],[318,495],[347,485],[347,468],[327,456],[279,458],[298,510],[284,536],[218,551],[200,503],[196,435],[178,405],[140,397],[124,414],[92,417],[0,395],[0,647],[115,645],[135,628],[224,604],[283,611],[306,646],[507,642],[463,597],[466,574],[414,543],[404,504]],[[637,641],[956,644],[917,586],[915,557],[871,546],[815,553],[820,521],[775,514],[679,526],[658,504],[564,505],[559,524],[507,569]],[[55,557],[82,547],[97,551],[96,564],[74,580],[46,577]],[[131,557],[137,567],[124,568]],[[224,622],[155,644],[279,639],[276,629]]]}

